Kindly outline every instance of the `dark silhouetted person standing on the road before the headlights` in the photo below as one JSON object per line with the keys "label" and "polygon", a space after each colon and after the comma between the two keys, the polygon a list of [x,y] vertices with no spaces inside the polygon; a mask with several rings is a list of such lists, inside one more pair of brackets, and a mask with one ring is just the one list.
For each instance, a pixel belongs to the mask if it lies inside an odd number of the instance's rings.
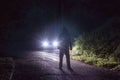
{"label": "dark silhouetted person standing on the road before the headlights", "polygon": [[59,69],[62,69],[62,63],[63,63],[63,56],[65,54],[66,56],[66,62],[67,62],[67,67],[68,69],[72,69],[70,65],[70,54],[69,54],[69,49],[72,50],[72,45],[70,41],[70,35],[68,30],[64,27],[62,33],[59,36],[60,40],[60,54],[59,54]]}

